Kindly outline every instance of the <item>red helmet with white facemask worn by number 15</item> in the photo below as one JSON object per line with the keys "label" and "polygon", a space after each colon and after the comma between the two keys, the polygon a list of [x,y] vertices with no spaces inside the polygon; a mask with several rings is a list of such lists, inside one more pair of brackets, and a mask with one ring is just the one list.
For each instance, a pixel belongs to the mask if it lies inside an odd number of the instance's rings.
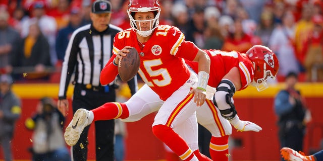
{"label": "red helmet with white facemask worn by number 15", "polygon": [[[155,17],[151,20],[135,20],[133,17],[135,12],[153,12]],[[160,15],[160,6],[158,0],[129,0],[128,16],[130,18],[131,28],[137,32],[140,36],[147,37],[159,24],[159,15]],[[150,21],[150,30],[141,31],[140,22],[149,22]],[[136,22],[139,22],[136,24]],[[137,26],[139,25],[139,26]]]}

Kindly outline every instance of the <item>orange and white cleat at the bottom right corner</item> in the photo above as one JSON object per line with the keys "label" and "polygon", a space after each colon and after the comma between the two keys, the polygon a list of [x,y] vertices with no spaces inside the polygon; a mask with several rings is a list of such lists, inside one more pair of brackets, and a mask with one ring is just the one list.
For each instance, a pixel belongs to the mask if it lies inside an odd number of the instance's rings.
{"label": "orange and white cleat at the bottom right corner", "polygon": [[281,154],[283,155],[283,158],[288,161],[310,161],[303,152],[297,152],[289,147],[283,147],[281,149]]}

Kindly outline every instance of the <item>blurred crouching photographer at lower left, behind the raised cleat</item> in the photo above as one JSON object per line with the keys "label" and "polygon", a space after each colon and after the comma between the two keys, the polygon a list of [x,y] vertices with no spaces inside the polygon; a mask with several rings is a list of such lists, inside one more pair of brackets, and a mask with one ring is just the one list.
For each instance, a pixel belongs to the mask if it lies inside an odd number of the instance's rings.
{"label": "blurred crouching photographer at lower left, behind the raised cleat", "polygon": [[28,129],[34,130],[32,136],[34,161],[71,160],[63,138],[64,116],[54,105],[51,98],[42,98],[37,105],[37,113],[25,122]]}

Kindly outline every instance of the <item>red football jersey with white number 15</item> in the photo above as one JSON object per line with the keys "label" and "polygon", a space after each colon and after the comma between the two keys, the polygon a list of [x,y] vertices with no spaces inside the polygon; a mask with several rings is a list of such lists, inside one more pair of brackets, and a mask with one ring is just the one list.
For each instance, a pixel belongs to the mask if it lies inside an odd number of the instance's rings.
{"label": "red football jersey with white number 15", "polygon": [[139,75],[160,99],[166,100],[184,85],[190,76],[182,58],[193,60],[198,48],[185,41],[184,34],[174,26],[159,25],[145,43],[139,46],[136,32],[124,30],[115,36],[113,53],[125,46],[137,49],[140,55]]}

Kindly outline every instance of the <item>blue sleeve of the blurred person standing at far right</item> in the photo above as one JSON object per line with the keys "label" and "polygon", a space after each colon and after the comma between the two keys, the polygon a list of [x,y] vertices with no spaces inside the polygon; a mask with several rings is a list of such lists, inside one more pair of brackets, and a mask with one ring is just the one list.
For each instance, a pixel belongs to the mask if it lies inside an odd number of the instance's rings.
{"label": "blue sleeve of the blurred person standing at far right", "polygon": [[286,91],[279,92],[275,98],[275,113],[280,116],[292,109],[293,105],[289,103],[288,93]]}

